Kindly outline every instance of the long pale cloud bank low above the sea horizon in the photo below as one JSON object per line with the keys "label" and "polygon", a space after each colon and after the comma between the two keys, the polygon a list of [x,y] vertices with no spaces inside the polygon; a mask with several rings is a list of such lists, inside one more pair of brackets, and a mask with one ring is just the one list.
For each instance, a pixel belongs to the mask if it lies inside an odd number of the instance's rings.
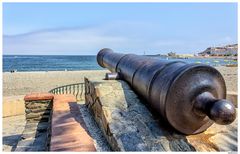
{"label": "long pale cloud bank low above the sea horizon", "polygon": [[45,29],[25,34],[4,35],[3,54],[96,55],[102,48],[125,53],[196,53],[217,43],[231,43],[229,36],[219,39],[168,38],[168,32],[154,23],[118,21],[91,27]]}

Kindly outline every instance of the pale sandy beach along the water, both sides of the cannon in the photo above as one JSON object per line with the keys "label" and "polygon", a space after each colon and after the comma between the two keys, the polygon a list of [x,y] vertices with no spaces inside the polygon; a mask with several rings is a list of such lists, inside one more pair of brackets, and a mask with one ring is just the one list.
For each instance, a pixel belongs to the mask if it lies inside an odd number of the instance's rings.
{"label": "pale sandy beach along the water, both sides of the cannon", "polygon": [[[237,67],[216,67],[223,75],[228,91],[237,92]],[[108,70],[3,73],[3,96],[47,92],[53,88],[84,82],[84,77],[104,77]]]}

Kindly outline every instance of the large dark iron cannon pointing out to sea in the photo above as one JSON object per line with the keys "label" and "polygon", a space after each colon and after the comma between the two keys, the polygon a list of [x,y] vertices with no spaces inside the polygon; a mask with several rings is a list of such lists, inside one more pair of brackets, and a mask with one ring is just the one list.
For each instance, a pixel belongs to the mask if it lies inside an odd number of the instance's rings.
{"label": "large dark iron cannon pointing out to sea", "polygon": [[108,79],[125,80],[149,106],[183,134],[205,131],[214,122],[232,123],[234,105],[226,100],[225,81],[215,68],[204,64],[167,61],[104,48],[97,55]]}

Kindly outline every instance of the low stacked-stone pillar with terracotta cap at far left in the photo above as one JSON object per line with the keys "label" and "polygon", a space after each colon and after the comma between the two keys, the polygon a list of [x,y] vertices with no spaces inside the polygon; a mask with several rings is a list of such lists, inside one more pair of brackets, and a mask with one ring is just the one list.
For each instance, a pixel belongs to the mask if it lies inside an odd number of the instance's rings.
{"label": "low stacked-stone pillar with terracotta cap at far left", "polygon": [[24,97],[26,126],[15,151],[48,151],[53,98],[49,93]]}

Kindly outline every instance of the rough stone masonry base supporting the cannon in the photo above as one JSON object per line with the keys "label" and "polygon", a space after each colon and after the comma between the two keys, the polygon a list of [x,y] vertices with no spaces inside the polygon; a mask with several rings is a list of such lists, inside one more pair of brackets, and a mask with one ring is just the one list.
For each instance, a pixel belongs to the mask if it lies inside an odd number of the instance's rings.
{"label": "rough stone masonry base supporting the cannon", "polygon": [[236,151],[237,119],[185,136],[141,101],[127,83],[85,79],[86,105],[114,151]]}

